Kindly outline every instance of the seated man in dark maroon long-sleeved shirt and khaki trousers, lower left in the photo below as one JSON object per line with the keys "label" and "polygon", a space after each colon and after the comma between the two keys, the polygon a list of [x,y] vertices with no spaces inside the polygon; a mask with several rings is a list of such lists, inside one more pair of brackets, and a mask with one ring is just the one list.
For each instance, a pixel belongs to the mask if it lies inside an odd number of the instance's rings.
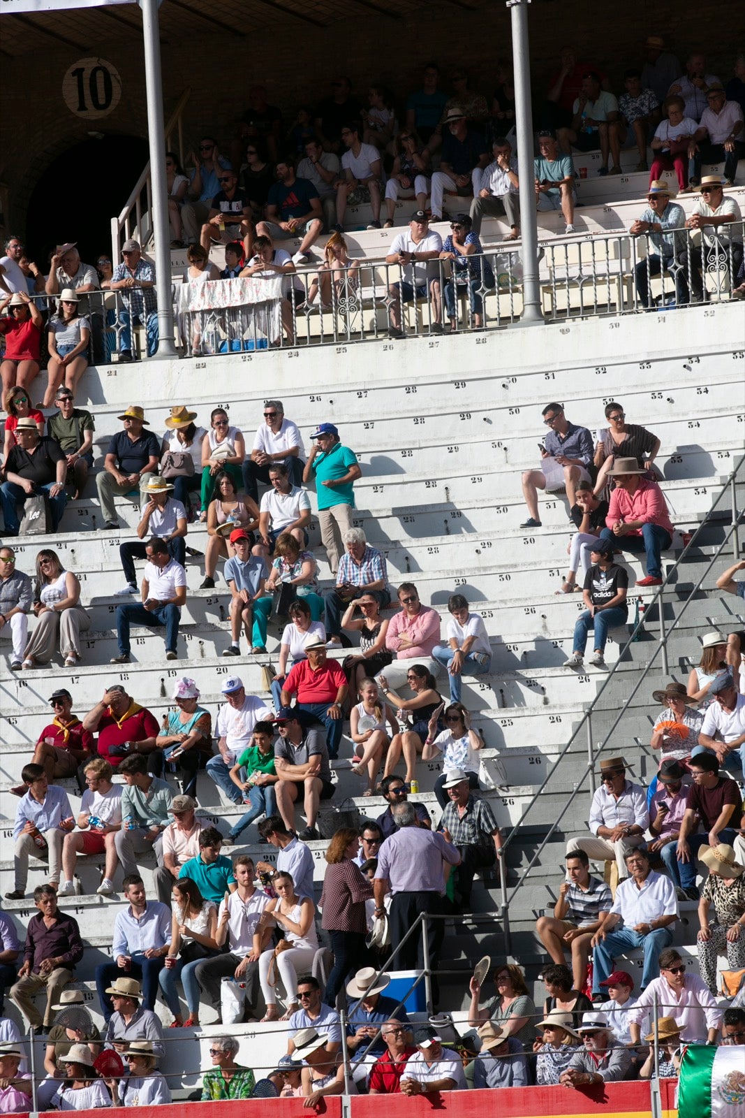
{"label": "seated man in dark maroon long-sleeved shirt and khaki trousers, lower left", "polygon": [[[54,884],[37,885],[34,904],[38,912],[26,927],[23,963],[10,996],[32,1029],[48,1032],[52,1006],[59,1002],[63,987],[75,978],[75,966],[83,958],[83,942],[77,921],[58,910]],[[35,1003],[42,989],[47,993],[44,1016]]]}

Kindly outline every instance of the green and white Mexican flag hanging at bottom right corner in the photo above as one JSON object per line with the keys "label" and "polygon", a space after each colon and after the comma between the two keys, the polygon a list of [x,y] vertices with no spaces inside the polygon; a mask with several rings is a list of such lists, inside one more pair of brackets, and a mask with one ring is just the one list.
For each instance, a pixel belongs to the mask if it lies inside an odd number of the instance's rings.
{"label": "green and white Mexican flag hanging at bottom right corner", "polygon": [[696,1118],[743,1118],[745,1045],[691,1044],[680,1064],[678,1114]]}

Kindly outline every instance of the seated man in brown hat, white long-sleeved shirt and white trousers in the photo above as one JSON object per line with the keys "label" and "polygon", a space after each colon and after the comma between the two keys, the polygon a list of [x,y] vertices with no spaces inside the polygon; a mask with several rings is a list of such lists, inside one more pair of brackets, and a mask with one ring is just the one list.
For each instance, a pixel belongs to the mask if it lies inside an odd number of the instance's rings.
{"label": "seated man in brown hat, white long-sleeved shirt and white trousers", "polygon": [[618,880],[623,881],[631,872],[627,856],[644,841],[648,826],[643,788],[627,780],[622,757],[608,757],[600,762],[600,788],[590,808],[590,831],[595,837],[570,839],[566,855],[583,850],[593,861],[615,860]]}

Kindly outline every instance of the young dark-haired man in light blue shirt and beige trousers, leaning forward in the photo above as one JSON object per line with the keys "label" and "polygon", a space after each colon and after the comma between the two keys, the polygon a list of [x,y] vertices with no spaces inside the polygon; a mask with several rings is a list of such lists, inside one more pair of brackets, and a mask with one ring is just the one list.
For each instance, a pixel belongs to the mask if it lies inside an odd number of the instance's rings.
{"label": "young dark-haired man in light blue shirt and beige trousers, leaning forward", "polygon": [[75,817],[64,788],[50,785],[41,765],[25,765],[21,780],[26,793],[16,808],[13,866],[16,883],[9,900],[26,897],[29,854],[49,862],[49,884],[59,884],[63,841],[75,826]]}

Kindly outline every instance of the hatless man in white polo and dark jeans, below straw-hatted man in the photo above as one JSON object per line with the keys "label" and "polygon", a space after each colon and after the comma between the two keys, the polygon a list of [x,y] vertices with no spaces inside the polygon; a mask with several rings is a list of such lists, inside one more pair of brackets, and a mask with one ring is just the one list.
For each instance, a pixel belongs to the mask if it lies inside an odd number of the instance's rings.
{"label": "hatless man in white polo and dark jeans, below straw-hatted man", "polygon": [[145,569],[142,576],[142,604],[131,601],[116,608],[118,656],[112,664],[130,663],[130,626],[165,626],[165,659],[176,659],[176,641],[181,607],[187,600],[187,572],[171,559],[165,540],[153,536],[145,544]]}

